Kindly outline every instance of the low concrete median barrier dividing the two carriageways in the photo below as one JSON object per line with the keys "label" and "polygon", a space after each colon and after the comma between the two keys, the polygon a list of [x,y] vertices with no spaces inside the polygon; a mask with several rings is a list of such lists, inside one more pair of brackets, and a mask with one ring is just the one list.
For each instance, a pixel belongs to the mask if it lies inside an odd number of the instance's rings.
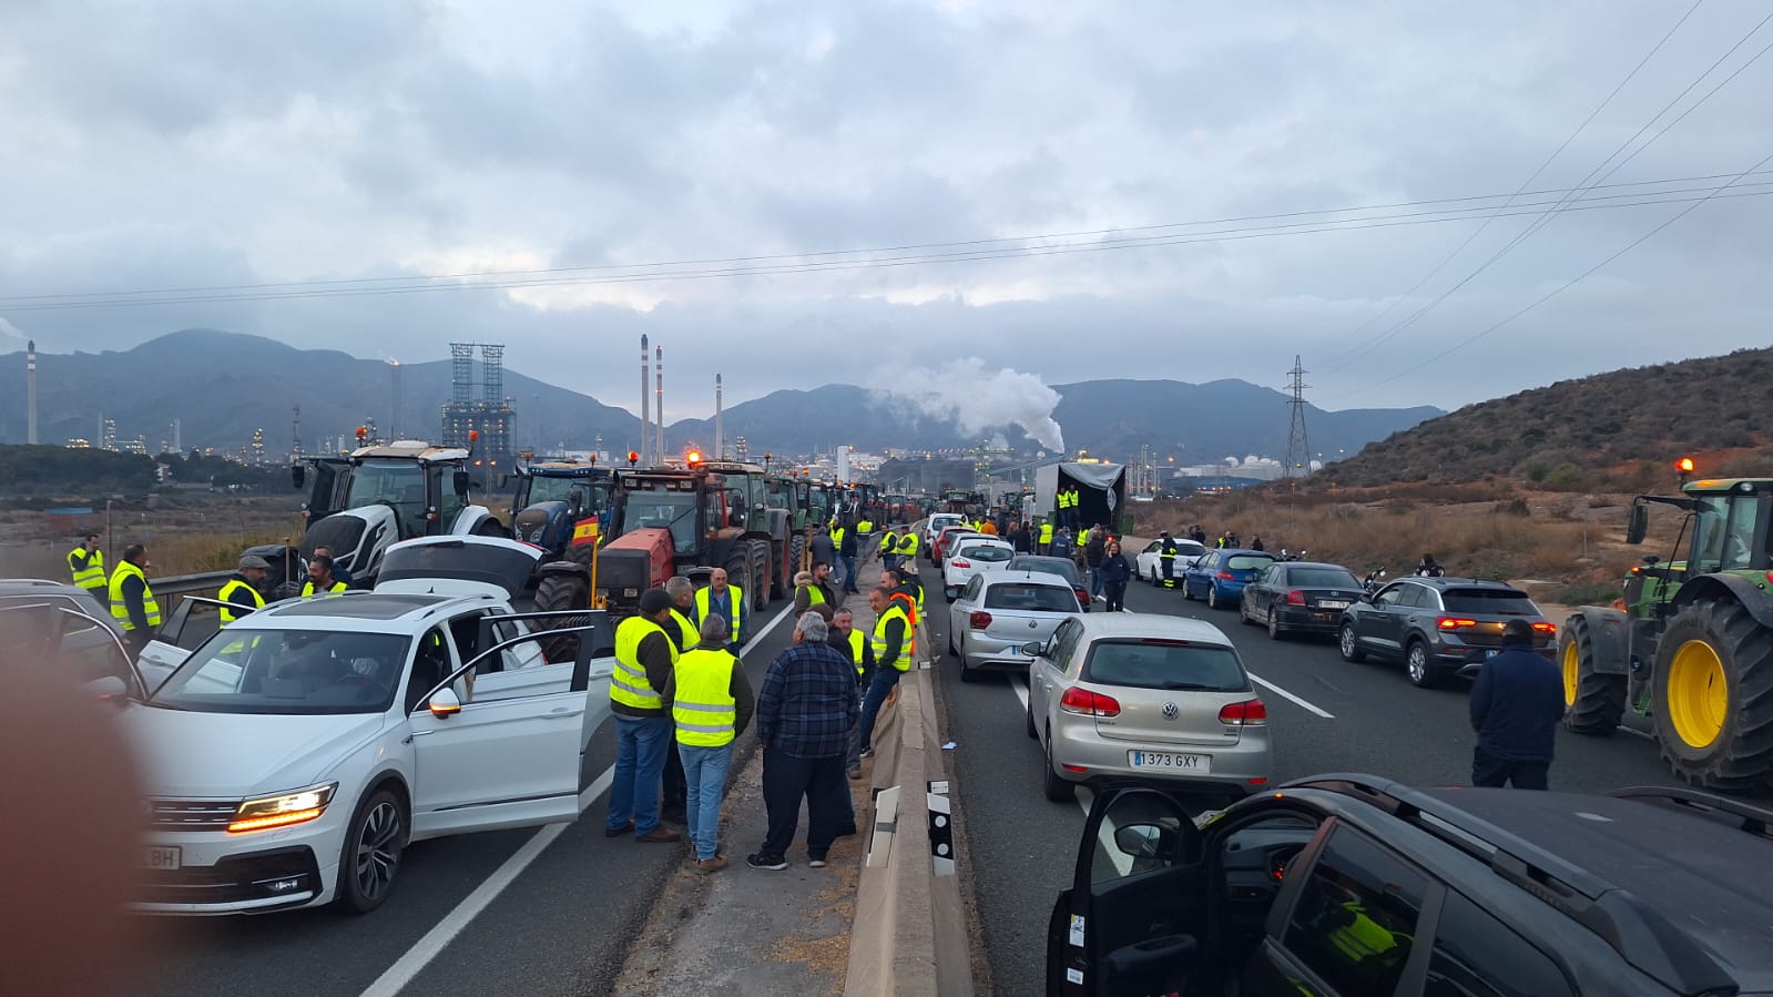
{"label": "low concrete median barrier dividing the two carriageways", "polygon": [[[927,632],[920,646],[929,648]],[[869,850],[844,981],[849,997],[973,993],[934,678],[929,669],[906,672],[897,703],[876,727]]]}

